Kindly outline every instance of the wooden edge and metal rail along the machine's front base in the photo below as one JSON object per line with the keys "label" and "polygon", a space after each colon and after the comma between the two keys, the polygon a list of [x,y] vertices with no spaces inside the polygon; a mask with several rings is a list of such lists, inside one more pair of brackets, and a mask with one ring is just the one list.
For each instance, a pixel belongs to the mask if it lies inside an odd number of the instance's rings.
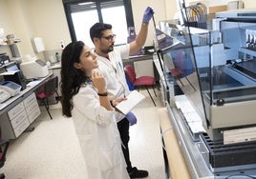
{"label": "wooden edge and metal rail along the machine's front base", "polygon": [[[185,96],[177,96],[177,101],[184,101]],[[202,142],[195,141],[187,121],[181,115],[181,109],[169,104],[159,109],[160,129],[163,141],[163,151],[166,156],[166,173],[172,179],[226,179],[226,178],[252,178],[255,169],[234,169],[227,167],[223,171],[213,171],[205,162],[200,148]]]}

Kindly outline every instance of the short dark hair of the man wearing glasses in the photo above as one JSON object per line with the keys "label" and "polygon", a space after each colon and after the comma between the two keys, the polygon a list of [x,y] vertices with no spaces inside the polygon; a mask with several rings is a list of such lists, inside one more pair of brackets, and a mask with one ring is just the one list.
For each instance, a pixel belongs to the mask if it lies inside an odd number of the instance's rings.
{"label": "short dark hair of the man wearing glasses", "polygon": [[102,36],[102,31],[104,30],[112,30],[112,26],[110,24],[104,23],[96,23],[90,29],[91,40],[94,42],[94,38],[100,38]]}

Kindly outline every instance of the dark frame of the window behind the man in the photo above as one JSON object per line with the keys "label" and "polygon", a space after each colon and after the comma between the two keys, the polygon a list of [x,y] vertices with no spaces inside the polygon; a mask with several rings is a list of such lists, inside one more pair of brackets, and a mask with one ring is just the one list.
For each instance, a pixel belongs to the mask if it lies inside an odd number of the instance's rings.
{"label": "dark frame of the window behind the man", "polygon": [[[71,16],[71,6],[78,4],[78,3],[86,3],[86,2],[95,2],[96,3],[96,10],[97,10],[97,15],[98,15],[98,20],[99,22],[103,22],[103,18],[102,18],[102,14],[101,14],[101,8],[100,8],[100,3],[103,2],[112,2],[115,0],[62,0],[63,6],[64,6],[64,10],[65,10],[65,14],[66,14],[66,19],[67,19],[67,23],[68,23],[68,27],[70,30],[70,35],[71,35],[71,39],[73,42],[76,41],[76,36],[75,36],[75,28],[74,28],[74,24],[73,24],[73,20],[72,20],[72,16]],[[132,10],[132,3],[131,0],[122,0],[123,1],[123,5],[124,5],[124,10],[125,10],[125,14],[126,14],[126,24],[127,27],[134,27],[134,17],[133,17],[133,10]]]}

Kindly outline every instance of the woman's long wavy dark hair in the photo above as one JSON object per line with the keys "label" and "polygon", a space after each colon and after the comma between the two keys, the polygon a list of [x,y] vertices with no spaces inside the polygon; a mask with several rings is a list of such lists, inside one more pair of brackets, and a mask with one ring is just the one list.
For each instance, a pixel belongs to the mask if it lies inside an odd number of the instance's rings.
{"label": "woman's long wavy dark hair", "polygon": [[79,57],[84,45],[82,41],[72,42],[66,46],[61,55],[61,105],[62,113],[67,117],[72,117],[73,96],[88,79],[84,71],[74,67],[75,62],[80,62]]}

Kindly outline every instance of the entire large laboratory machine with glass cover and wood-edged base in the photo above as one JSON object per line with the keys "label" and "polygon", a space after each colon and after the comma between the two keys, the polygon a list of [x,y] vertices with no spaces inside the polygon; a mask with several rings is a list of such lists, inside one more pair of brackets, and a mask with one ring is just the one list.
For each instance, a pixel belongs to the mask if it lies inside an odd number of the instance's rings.
{"label": "entire large laboratory machine with glass cover and wood-edged base", "polygon": [[[221,21],[217,31],[172,22],[158,30],[164,39],[154,64],[167,113],[160,125],[171,178],[256,177],[255,49],[245,48],[245,34],[256,25],[239,18]],[[177,84],[184,94],[176,93]]]}

